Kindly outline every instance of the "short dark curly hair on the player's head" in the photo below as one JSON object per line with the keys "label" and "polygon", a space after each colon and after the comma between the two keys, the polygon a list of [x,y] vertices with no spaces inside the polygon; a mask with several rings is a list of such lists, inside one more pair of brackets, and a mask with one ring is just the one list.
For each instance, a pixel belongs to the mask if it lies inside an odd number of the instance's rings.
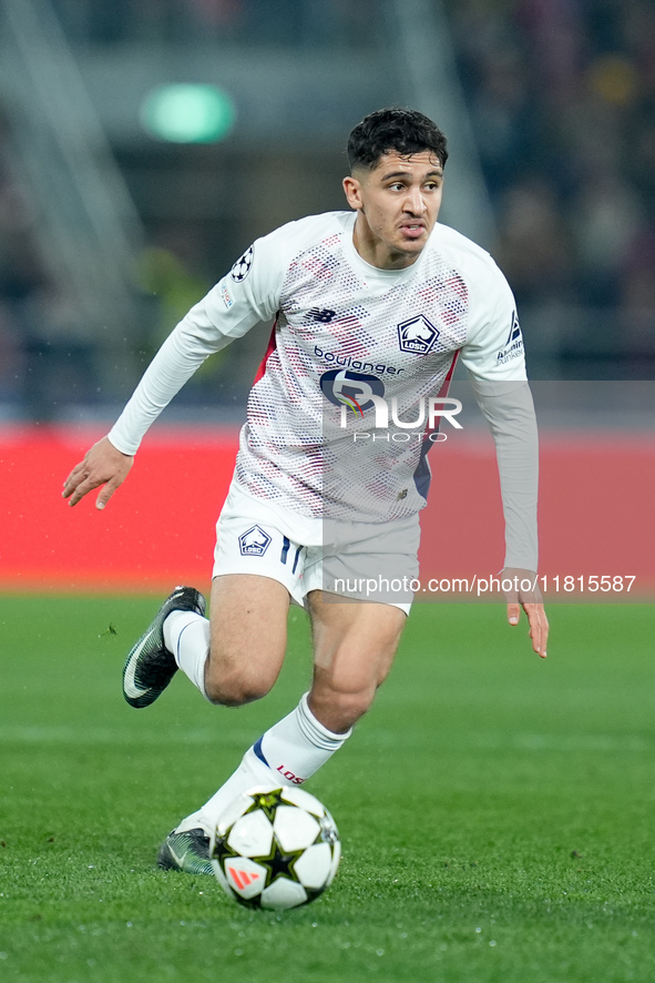
{"label": "short dark curly hair on the player's head", "polygon": [[348,138],[348,160],[352,170],[372,171],[383,153],[395,150],[401,156],[429,150],[443,168],[448,160],[446,135],[423,113],[415,109],[379,109],[355,126]]}

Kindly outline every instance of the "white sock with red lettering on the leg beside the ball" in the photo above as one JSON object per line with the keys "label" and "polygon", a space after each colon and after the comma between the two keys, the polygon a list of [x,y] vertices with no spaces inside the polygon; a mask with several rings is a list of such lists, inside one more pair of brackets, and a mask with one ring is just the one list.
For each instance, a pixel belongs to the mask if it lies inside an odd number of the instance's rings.
{"label": "white sock with red lettering on the leg beside the ball", "polygon": [[332,733],[307,705],[307,693],[296,709],[275,723],[248,748],[242,763],[205,804],[187,815],[177,830],[202,827],[211,835],[221,812],[253,786],[282,781],[301,784],[328,761],[352,731]]}

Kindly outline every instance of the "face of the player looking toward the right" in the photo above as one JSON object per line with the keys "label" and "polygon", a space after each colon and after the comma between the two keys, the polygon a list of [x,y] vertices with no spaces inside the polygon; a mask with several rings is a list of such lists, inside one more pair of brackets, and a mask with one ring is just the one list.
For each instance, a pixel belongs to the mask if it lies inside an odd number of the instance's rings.
{"label": "face of the player looking toward the right", "polygon": [[372,171],[346,178],[348,204],[357,211],[355,246],[381,270],[402,270],[420,255],[441,206],[443,169],[430,151],[382,154]]}

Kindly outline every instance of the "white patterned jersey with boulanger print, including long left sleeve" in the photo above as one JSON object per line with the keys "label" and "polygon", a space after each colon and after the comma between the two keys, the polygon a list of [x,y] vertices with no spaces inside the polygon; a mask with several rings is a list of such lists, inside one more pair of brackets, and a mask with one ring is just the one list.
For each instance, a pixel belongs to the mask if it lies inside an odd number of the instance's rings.
{"label": "white patterned jersey with boulanger print, including long left sleeve", "polygon": [[[474,378],[525,379],[514,298],[491,256],[446,225],[411,266],[371,266],[352,244],[355,219],[310,216],[258,239],[164,344],[110,434],[115,446],[133,454],[208,354],[275,318],[240,435],[240,488],[307,518],[422,508],[428,401],[447,393],[458,354]],[[380,401],[393,412],[373,439]]]}

